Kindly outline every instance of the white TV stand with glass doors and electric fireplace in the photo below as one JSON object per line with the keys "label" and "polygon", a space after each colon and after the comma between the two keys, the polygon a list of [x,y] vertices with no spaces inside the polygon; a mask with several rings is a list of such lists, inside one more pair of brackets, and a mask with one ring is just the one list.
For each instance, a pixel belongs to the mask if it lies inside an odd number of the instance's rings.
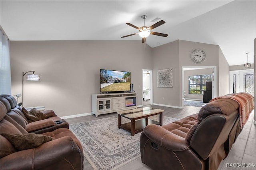
{"label": "white TV stand with glass doors and electric fireplace", "polygon": [[113,113],[137,108],[137,93],[92,94],[92,114]]}

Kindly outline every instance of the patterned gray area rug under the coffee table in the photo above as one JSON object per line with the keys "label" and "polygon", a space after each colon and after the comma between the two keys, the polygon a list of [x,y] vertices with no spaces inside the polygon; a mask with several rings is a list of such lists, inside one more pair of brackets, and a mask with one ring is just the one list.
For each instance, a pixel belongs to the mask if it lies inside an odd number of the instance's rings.
{"label": "patterned gray area rug under the coffee table", "polygon": [[[159,121],[159,115],[149,117]],[[163,124],[175,118],[163,116]],[[128,122],[122,118],[122,123]],[[118,129],[118,116],[72,124],[70,130],[80,140],[84,156],[95,170],[116,170],[140,157],[140,133]]]}

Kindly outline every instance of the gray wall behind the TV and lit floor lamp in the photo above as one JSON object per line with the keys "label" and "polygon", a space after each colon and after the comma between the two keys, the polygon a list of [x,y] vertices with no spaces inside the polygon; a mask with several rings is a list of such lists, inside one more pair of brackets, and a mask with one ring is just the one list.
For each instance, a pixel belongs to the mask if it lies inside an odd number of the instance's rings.
{"label": "gray wall behind the TV and lit floor lamp", "polygon": [[10,51],[12,94],[22,93],[22,72],[34,70],[41,80],[24,81],[24,106],[43,105],[58,116],[92,111],[100,68],[131,72],[141,105],[142,68],[152,69],[152,48],[141,41],[12,41]]}

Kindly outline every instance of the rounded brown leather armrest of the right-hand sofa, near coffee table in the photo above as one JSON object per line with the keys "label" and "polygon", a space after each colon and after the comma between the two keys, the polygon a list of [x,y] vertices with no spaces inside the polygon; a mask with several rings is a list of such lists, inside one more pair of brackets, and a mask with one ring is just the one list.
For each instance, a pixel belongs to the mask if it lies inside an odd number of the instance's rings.
{"label": "rounded brown leather armrest of the right-hand sofa, near coffee table", "polygon": [[143,132],[150,140],[169,150],[181,151],[189,147],[185,138],[155,124],[146,126]]}

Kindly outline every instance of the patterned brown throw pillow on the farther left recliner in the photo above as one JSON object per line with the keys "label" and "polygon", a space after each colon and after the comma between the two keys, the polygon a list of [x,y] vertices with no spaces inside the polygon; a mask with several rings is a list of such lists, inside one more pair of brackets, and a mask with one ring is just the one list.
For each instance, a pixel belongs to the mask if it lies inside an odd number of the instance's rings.
{"label": "patterned brown throw pillow on the farther left recliner", "polygon": [[28,119],[28,123],[46,119],[46,115],[41,111],[36,110],[36,108],[31,109],[29,112],[26,110],[26,108],[22,108],[22,112]]}

